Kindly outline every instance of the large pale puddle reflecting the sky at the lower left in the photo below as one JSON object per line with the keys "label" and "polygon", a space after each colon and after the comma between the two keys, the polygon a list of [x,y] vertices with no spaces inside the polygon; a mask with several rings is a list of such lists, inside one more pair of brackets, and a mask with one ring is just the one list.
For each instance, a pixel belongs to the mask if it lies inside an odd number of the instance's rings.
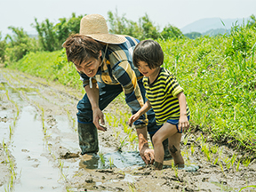
{"label": "large pale puddle reflecting the sky at the lower left", "polygon": [[58,168],[42,156],[45,151],[42,123],[35,119],[36,108],[26,106],[12,137],[12,156],[15,157],[17,191],[62,191]]}

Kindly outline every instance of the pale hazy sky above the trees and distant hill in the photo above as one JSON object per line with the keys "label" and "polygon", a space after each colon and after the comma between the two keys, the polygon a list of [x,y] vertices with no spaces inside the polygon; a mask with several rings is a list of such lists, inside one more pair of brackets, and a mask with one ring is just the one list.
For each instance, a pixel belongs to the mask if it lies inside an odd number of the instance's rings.
{"label": "pale hazy sky above the trees and distant hill", "polygon": [[35,18],[57,23],[60,18],[98,13],[108,19],[108,11],[138,22],[148,14],[155,26],[168,24],[183,28],[204,18],[238,19],[256,15],[256,0],[0,0],[0,31],[11,33],[9,26],[36,34],[31,27]]}

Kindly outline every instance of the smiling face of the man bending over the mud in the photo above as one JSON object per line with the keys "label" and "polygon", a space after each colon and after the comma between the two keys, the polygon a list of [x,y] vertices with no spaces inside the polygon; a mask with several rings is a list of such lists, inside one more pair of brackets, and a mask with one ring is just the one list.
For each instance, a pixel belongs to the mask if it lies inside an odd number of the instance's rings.
{"label": "smiling face of the man bending over the mud", "polygon": [[79,72],[83,72],[86,76],[89,77],[95,76],[101,63],[100,56],[98,59],[91,57],[89,60],[82,62],[80,65],[76,65],[76,62],[74,62],[76,70]]}

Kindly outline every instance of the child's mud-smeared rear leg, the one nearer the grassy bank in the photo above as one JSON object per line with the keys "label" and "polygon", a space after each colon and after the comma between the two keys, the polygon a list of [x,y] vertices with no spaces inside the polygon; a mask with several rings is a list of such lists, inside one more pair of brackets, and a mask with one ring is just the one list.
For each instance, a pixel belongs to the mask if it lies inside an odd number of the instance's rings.
{"label": "child's mud-smeared rear leg, the one nearer the grassy bank", "polygon": [[169,137],[168,138],[169,150],[173,157],[174,164],[178,165],[179,167],[184,167],[184,159],[180,153],[180,140],[181,140],[181,133],[179,132],[176,132],[171,137]]}

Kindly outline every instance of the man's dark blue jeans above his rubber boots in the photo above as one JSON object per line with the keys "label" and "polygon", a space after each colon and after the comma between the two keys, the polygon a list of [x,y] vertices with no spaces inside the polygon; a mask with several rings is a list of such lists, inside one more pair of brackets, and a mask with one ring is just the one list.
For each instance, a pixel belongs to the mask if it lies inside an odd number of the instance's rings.
{"label": "man's dark blue jeans above his rubber boots", "polygon": [[[144,102],[146,101],[145,97],[145,88],[142,83],[142,79],[138,81],[138,84],[140,86],[140,92],[143,97]],[[104,108],[107,108],[108,104],[114,100],[121,92],[123,92],[123,88],[120,84],[117,85],[108,85],[108,84],[101,84],[99,85],[99,92],[100,92],[100,98],[99,98],[99,107],[100,110],[103,110]],[[87,94],[84,95],[84,98],[80,100],[77,104],[78,112],[76,114],[77,120],[81,124],[92,124],[93,117],[92,117],[92,106],[90,103],[90,100],[87,97]],[[132,111],[132,114],[134,114],[136,111]],[[155,134],[155,132],[161,127],[159,125],[156,125],[156,117],[153,109],[151,108],[147,112],[148,115],[148,133],[151,136]],[[140,119],[138,119],[134,124],[142,124]]]}

